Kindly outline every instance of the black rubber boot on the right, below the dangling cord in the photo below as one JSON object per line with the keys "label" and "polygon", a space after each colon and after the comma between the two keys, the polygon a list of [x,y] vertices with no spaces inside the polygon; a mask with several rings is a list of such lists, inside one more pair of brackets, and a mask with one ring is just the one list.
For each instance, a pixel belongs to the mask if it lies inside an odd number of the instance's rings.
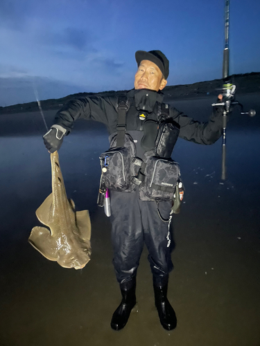
{"label": "black rubber boot on the right, below the dangling cord", "polygon": [[155,291],[155,307],[157,307],[159,320],[162,327],[166,330],[172,330],[177,325],[175,311],[167,299],[168,282],[164,286],[153,284]]}

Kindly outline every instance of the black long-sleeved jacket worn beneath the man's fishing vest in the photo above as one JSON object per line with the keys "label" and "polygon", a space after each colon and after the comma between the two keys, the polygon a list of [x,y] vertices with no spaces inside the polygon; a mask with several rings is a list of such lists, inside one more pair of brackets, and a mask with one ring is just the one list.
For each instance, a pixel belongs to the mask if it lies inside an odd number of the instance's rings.
{"label": "black long-sleeved jacket worn beneath the man's fishing vest", "polygon": [[[158,104],[163,102],[163,94],[148,89],[132,89],[125,93],[127,96],[128,113],[126,116],[126,131],[128,131],[137,145],[137,156],[141,157],[141,137],[143,136],[144,120],[139,114],[144,112],[148,120],[158,120]],[[94,96],[69,101],[55,116],[55,124],[67,129],[67,134],[73,129],[73,123],[78,119],[92,119],[103,122],[109,134],[116,132],[118,121],[118,96]],[[207,122],[198,122],[177,111],[170,109],[170,116],[180,125],[181,138],[198,144],[213,144],[222,134],[222,111],[214,111]],[[135,138],[136,137],[136,138]]]}

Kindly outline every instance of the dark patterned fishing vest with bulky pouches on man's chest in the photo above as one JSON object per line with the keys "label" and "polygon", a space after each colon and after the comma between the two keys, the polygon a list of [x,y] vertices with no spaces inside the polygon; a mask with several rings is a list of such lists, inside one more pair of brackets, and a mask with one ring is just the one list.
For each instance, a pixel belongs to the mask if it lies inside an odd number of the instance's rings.
{"label": "dark patterned fishing vest with bulky pouches on man's chest", "polygon": [[[105,188],[133,192],[139,188],[141,200],[169,201],[173,199],[180,167],[171,159],[180,128],[170,115],[168,104],[157,104],[157,121],[144,119],[141,145],[146,148],[142,158],[132,136],[126,131],[129,102],[119,97],[116,134],[110,136],[110,149],[101,154],[101,181]],[[137,116],[145,114],[139,111]]]}

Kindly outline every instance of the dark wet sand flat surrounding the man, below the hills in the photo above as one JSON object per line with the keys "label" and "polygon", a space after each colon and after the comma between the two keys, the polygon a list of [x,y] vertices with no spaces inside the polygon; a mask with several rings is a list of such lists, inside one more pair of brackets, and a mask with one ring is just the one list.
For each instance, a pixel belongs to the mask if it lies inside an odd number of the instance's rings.
{"label": "dark wet sand flat surrounding the man, below the hills", "polygon": [[[69,198],[92,219],[92,260],[75,271],[49,262],[28,244],[35,210],[51,192],[51,163],[40,113],[0,116],[0,345],[259,346],[260,345],[260,98],[241,95],[249,118],[234,111],[227,128],[227,180],[220,180],[221,140],[210,146],[178,140],[173,158],[185,185],[173,219],[175,269],[168,298],[177,328],[165,331],[154,307],[144,249],[137,308],[122,331],[110,329],[120,302],[112,266],[110,221],[96,206],[100,164],[108,147],[103,125],[79,121],[60,149]],[[211,98],[175,101],[199,120]],[[45,112],[51,125],[55,111]]]}

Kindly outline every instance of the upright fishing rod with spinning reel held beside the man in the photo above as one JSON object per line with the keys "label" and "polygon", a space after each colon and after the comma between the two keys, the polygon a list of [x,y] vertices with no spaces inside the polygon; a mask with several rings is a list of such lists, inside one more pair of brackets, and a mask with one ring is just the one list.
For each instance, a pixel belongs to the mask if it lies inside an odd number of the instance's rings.
{"label": "upright fishing rod with spinning reel held beside the man", "polygon": [[243,111],[243,105],[234,99],[236,86],[232,84],[229,76],[229,0],[225,0],[225,46],[223,53],[223,98],[220,102],[212,104],[213,107],[223,106],[223,140],[222,140],[222,174],[221,179],[226,179],[226,129],[227,129],[227,116],[232,106],[239,105],[241,107],[241,114],[248,116],[255,116],[256,111],[250,109],[248,112]]}

